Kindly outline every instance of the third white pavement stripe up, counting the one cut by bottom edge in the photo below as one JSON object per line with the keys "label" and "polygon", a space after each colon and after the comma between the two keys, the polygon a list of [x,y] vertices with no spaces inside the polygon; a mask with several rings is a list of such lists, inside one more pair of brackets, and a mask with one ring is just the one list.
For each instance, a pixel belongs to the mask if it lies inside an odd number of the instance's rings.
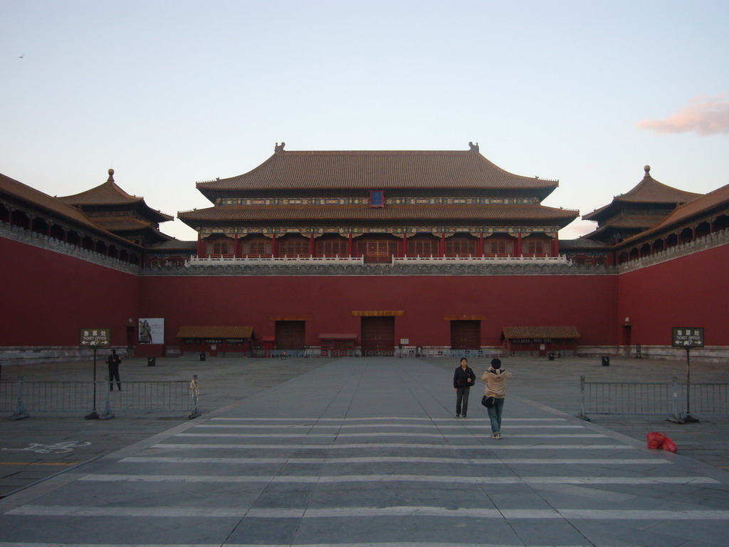
{"label": "third white pavement stripe up, counting the one cut by bottom edge", "polygon": [[713,478],[690,477],[464,477],[440,475],[87,475],[87,482],[185,482],[185,483],[367,483],[432,482],[459,484],[719,484]]}

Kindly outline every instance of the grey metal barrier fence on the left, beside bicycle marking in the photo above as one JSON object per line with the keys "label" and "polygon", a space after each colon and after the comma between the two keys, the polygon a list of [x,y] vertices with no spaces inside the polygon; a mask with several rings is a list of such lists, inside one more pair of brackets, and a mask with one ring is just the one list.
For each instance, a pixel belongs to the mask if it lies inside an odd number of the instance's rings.
{"label": "grey metal barrier fence on the left, beside bicycle marking", "polygon": [[[197,410],[191,381],[0,381],[0,411],[15,419],[31,412],[182,413]],[[121,389],[119,386],[121,385]],[[112,391],[109,387],[114,387]],[[111,417],[111,416],[109,416]]]}

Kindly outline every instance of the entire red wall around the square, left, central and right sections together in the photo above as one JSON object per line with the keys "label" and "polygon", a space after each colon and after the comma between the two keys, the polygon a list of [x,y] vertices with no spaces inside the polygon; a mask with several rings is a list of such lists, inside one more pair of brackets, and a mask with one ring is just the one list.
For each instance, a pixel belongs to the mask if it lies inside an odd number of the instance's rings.
{"label": "entire red wall around the square, left, central and right sections together", "polygon": [[[135,276],[0,237],[0,346],[77,346],[82,327],[112,328],[128,344],[128,319],[163,317],[165,344],[182,325],[254,327],[306,316],[306,344],[320,333],[360,335],[351,311],[404,311],[395,340],[449,346],[445,317],[484,316],[481,344],[504,326],[574,325],[580,346],[670,344],[674,326],[705,327],[706,345],[729,346],[729,246],[620,275]],[[359,343],[359,340],[358,340]]]}

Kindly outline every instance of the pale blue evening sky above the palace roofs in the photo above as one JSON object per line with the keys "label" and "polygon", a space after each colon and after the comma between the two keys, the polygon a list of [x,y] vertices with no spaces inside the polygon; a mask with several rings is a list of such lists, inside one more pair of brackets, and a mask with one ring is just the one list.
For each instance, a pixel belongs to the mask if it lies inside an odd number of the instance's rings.
{"label": "pale blue evening sky above the palace roofs", "polygon": [[729,184],[728,21],[725,0],[0,0],[0,173],[63,196],[114,168],[176,216],[277,142],[474,141],[581,215],[645,165],[708,193]]}

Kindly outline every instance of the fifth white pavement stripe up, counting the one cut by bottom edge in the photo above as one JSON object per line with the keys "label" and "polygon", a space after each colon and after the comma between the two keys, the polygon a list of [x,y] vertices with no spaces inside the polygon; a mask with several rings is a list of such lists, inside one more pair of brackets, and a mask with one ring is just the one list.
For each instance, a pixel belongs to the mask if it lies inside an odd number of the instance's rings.
{"label": "fifth white pavement stripe up, counting the one cut by bottom edge", "polygon": [[[179,437],[181,435],[176,435]],[[489,440],[491,441],[491,440]],[[157,443],[153,449],[265,449],[265,450],[350,450],[350,449],[440,449],[440,450],[635,450],[626,444],[517,444],[503,441],[484,444],[404,444],[404,443],[351,443],[351,444],[192,444]]]}

